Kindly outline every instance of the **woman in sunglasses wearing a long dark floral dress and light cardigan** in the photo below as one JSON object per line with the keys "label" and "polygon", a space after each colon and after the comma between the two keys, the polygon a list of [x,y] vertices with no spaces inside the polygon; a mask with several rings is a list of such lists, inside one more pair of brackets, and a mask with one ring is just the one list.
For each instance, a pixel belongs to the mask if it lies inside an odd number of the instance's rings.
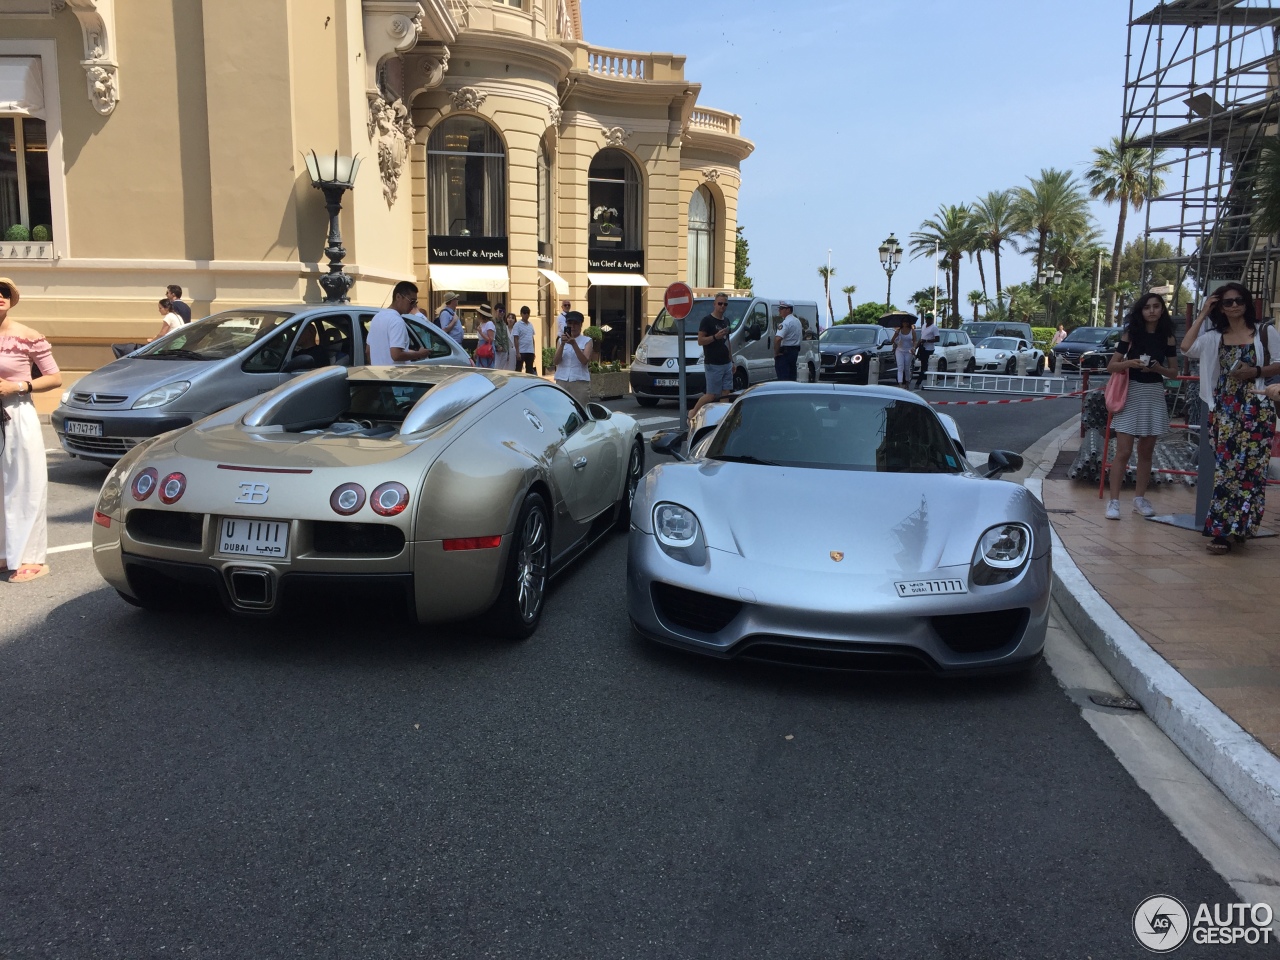
{"label": "woman in sunglasses wearing a long dark floral dress and light cardigan", "polygon": [[[1206,319],[1212,329],[1201,334]],[[1275,404],[1262,389],[1280,372],[1280,333],[1266,328],[1263,342],[1252,294],[1225,283],[1204,300],[1181,349],[1199,361],[1199,396],[1210,411],[1213,498],[1202,532],[1212,538],[1210,553],[1230,553],[1252,535],[1266,506]]]}

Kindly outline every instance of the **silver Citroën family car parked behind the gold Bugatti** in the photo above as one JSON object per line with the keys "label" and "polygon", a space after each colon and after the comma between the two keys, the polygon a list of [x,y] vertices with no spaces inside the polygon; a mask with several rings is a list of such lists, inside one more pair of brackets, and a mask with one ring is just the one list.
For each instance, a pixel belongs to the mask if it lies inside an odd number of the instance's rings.
{"label": "silver Citro\u00ebn family car parked behind the gold Bugatti", "polygon": [[[275,389],[305,370],[365,362],[375,307],[292,303],[246,307],[179,326],[95,370],[63,394],[50,422],[73,457],[114,463],[141,440]],[[463,364],[435,324],[404,317],[421,364]]]}

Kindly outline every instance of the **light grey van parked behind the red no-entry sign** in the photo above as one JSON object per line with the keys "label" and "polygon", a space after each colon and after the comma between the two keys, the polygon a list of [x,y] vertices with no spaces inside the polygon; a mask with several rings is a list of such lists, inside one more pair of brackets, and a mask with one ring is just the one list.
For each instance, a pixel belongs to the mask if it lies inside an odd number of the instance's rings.
{"label": "light grey van parked behind the red no-entry sign", "polygon": [[[792,300],[790,303],[804,330],[796,360],[796,379],[809,383],[818,379],[822,364],[818,352],[818,303],[812,300]],[[690,397],[696,397],[707,388],[703,348],[698,346],[698,324],[714,306],[714,297],[698,297],[685,319],[685,376]],[[730,352],[733,355],[733,389],[745,390],[751,384],[774,379],[773,335],[781,321],[778,301],[765,297],[730,297],[724,317],[728,320]],[[680,398],[677,330],[676,320],[662,310],[636,347],[631,361],[631,393],[641,407],[653,407],[660,399]]]}

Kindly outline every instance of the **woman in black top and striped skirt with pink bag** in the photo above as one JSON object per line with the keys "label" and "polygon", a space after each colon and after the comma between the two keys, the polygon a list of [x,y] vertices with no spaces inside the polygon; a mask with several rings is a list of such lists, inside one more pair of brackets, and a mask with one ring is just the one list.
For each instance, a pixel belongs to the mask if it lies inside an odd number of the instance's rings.
{"label": "woman in black top and striped skirt with pink bag", "polygon": [[1125,316],[1125,332],[1107,364],[1111,376],[1128,376],[1129,390],[1124,410],[1111,420],[1116,433],[1116,456],[1111,461],[1111,499],[1107,520],[1120,520],[1120,484],[1129,466],[1134,440],[1138,442],[1137,490],[1133,508],[1144,517],[1156,509],[1147,499],[1151,483],[1151,454],[1156,440],[1169,433],[1169,407],[1165,404],[1165,378],[1178,376],[1178,344],[1174,320],[1158,293],[1138,297]]}

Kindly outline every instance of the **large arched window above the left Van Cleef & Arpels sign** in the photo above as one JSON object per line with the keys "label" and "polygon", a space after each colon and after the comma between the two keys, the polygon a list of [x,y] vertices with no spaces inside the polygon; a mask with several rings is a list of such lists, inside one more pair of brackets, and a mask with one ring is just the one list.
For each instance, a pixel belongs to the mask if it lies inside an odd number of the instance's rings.
{"label": "large arched window above the left Van Cleef & Arpels sign", "polygon": [[479,116],[442,120],[426,141],[428,232],[507,236],[507,151]]}

